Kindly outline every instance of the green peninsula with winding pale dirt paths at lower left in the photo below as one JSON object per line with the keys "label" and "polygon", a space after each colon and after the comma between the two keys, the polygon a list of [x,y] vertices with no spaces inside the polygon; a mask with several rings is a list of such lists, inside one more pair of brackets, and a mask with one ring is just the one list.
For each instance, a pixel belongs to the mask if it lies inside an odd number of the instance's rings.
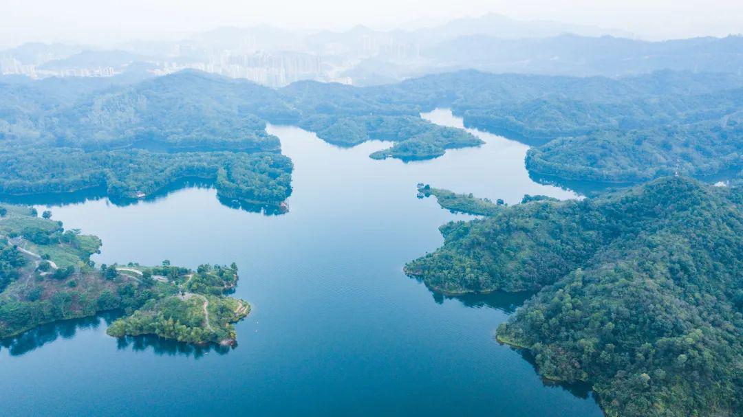
{"label": "green peninsula with winding pale dirt paths at lower left", "polygon": [[0,207],[0,338],[41,324],[109,310],[124,315],[108,335],[158,335],[192,344],[234,344],[250,305],[225,295],[237,266],[95,266],[98,237],[65,230],[51,213]]}

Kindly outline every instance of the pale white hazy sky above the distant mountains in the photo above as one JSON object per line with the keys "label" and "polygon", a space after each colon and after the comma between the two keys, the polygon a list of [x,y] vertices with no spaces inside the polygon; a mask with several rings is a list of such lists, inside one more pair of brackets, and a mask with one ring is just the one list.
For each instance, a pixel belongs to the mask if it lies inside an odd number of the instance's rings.
{"label": "pale white hazy sky above the distant mountains", "polygon": [[741,0],[0,0],[0,45],[178,38],[231,25],[390,28],[502,13],[629,30],[649,39],[743,33]]}

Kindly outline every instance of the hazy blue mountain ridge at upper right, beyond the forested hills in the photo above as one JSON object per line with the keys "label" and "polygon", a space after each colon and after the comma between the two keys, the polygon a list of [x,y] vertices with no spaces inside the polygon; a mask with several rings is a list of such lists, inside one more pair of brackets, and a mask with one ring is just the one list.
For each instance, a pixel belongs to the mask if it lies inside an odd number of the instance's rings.
{"label": "hazy blue mountain ridge at upper right, beyond the forested hills", "polygon": [[646,42],[613,36],[500,39],[462,36],[429,47],[419,73],[474,68],[490,72],[623,76],[654,70],[743,72],[743,37]]}

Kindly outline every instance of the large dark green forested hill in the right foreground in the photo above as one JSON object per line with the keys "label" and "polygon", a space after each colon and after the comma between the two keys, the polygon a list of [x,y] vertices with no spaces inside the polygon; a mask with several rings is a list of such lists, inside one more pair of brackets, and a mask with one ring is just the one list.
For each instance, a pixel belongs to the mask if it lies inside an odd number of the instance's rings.
{"label": "large dark green forested hill in the right foreground", "polygon": [[741,416],[743,192],[684,177],[442,226],[406,272],[446,292],[541,289],[499,328],[608,416]]}

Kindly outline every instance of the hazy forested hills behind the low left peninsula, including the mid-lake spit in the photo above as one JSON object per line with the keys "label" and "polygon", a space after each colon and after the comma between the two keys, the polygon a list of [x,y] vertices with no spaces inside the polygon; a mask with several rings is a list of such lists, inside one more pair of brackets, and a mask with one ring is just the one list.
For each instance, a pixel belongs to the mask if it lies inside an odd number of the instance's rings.
{"label": "hazy forested hills behind the low left peninsula, including the mid-lake spit", "polygon": [[380,102],[343,85],[300,82],[276,91],[194,70],[111,88],[80,84],[0,85],[0,137],[15,147],[88,151],[277,152],[279,139],[265,132],[272,122],[300,125],[336,145],[398,142],[377,158],[425,159],[481,144],[465,131],[421,119],[418,105]]}

